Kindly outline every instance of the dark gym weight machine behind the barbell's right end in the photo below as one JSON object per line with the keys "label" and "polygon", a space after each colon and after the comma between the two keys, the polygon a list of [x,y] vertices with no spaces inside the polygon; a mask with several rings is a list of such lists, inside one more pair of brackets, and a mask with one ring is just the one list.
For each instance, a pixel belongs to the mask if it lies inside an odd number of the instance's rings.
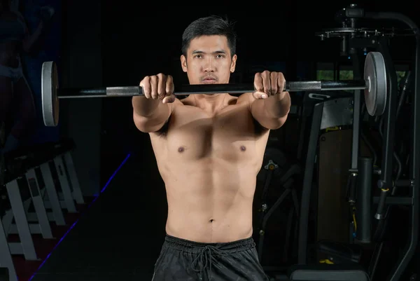
{"label": "dark gym weight machine behind the barbell's right end", "polygon": [[[367,13],[363,8],[358,8],[356,5],[351,5],[344,8],[342,11],[337,13],[337,18],[341,20],[342,26],[335,29],[326,29],[320,34],[321,39],[338,37],[341,39],[341,47],[343,54],[349,54],[356,57],[356,50],[360,48],[374,48],[384,56],[386,64],[386,73],[388,79],[388,88],[386,90],[386,110],[383,116],[383,146],[382,146],[382,158],[380,169],[374,170],[372,159],[370,158],[359,158],[359,139],[360,139],[360,113],[361,113],[361,95],[359,90],[355,90],[353,96],[353,147],[351,156],[351,170],[349,170],[349,203],[353,204],[356,210],[356,219],[358,220],[358,227],[355,232],[355,242],[370,242],[371,241],[371,228],[372,220],[377,219],[379,221],[385,219],[386,212],[385,207],[389,205],[407,205],[410,212],[411,231],[409,232],[409,238],[407,248],[405,249],[402,257],[399,259],[397,265],[393,269],[388,280],[396,281],[400,280],[402,273],[407,268],[407,264],[414,254],[416,249],[416,243],[419,239],[419,193],[418,184],[414,179],[420,177],[420,32],[419,28],[414,22],[407,18],[405,15],[400,13]],[[364,20],[391,20],[402,22],[407,25],[409,29],[405,29],[398,33],[398,30],[394,29],[365,29],[357,27],[359,19]],[[393,181],[393,158],[394,156],[394,139],[395,139],[395,115],[397,111],[397,97],[398,97],[398,85],[393,67],[393,61],[391,59],[390,52],[388,50],[388,40],[391,37],[398,35],[414,36],[416,39],[416,54],[414,69],[412,71],[414,90],[412,92],[412,137],[410,144],[410,171],[409,179]],[[353,53],[354,52],[354,53]],[[355,67],[357,68],[357,60],[354,60]],[[356,71],[357,73],[357,71]],[[367,101],[365,101],[367,102]],[[290,268],[288,277],[290,280],[369,280],[374,274],[374,268],[376,265],[373,264],[370,272],[360,267],[357,263],[345,263],[345,264],[315,264],[309,265],[307,259],[307,241],[308,241],[308,221],[309,221],[309,206],[311,197],[311,185],[314,173],[314,162],[316,157],[316,144],[318,143],[319,129],[321,127],[321,120],[323,111],[325,109],[325,102],[319,102],[314,105],[311,130],[309,133],[309,146],[306,156],[306,167],[304,169],[304,184],[302,190],[302,201],[300,210],[300,227],[299,227],[299,247],[297,254],[297,265]],[[362,135],[363,137],[363,135]],[[378,187],[380,189],[380,196],[370,198],[371,180],[372,174],[376,172],[379,174]],[[410,195],[406,197],[396,197],[393,194],[389,194],[395,186],[406,186],[410,189]],[[363,194],[365,193],[365,194]],[[376,214],[371,214],[371,204],[377,205]],[[325,245],[325,244],[324,244]],[[334,245],[334,243],[332,243]],[[330,252],[334,252],[335,249],[332,245],[326,245],[324,249],[329,249]],[[337,243],[335,243],[337,245]],[[338,245],[348,248],[348,245]],[[321,245],[322,248],[322,245]],[[336,251],[340,252],[340,251]],[[349,254],[354,254],[350,251]],[[337,255],[338,257],[339,255]],[[344,255],[347,256],[347,255]],[[351,261],[351,255],[347,257],[347,261]],[[356,259],[357,260],[357,259]],[[374,260],[373,263],[376,261]],[[333,276],[333,277],[332,277]],[[333,279],[332,279],[333,278]]]}

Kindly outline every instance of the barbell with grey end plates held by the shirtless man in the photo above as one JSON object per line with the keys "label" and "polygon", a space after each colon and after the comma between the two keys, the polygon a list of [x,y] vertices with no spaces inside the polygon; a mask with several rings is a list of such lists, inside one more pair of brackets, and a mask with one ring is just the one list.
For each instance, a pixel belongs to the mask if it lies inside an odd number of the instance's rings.
{"label": "barbell with grey end plates held by the shirtless man", "polygon": [[[59,88],[57,65],[44,62],[41,74],[41,103],[45,126],[57,126],[59,99],[89,97],[133,97],[143,95],[141,86],[102,88]],[[367,53],[364,80],[349,81],[287,81],[284,91],[364,90],[367,112],[371,116],[384,114],[386,107],[387,77],[384,57],[379,52]],[[174,87],[174,95],[192,94],[241,94],[253,92],[253,84],[228,83],[205,85],[180,85]]]}

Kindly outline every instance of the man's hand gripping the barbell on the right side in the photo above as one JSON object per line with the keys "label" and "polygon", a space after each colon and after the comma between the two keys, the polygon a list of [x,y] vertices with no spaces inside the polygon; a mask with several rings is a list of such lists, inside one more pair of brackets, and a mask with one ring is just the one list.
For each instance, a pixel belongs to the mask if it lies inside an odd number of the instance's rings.
{"label": "man's hand gripping the barbell on the right side", "polygon": [[[281,95],[286,79],[281,72],[263,71],[255,74],[253,97],[257,100],[263,100],[273,95]],[[281,95],[284,96],[284,95]]]}

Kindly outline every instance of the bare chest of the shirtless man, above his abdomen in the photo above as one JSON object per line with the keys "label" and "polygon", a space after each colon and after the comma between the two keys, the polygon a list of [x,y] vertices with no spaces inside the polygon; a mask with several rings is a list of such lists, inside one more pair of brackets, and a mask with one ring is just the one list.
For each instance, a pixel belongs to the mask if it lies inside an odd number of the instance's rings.
{"label": "bare chest of the shirtless man, above his abdomen", "polygon": [[255,153],[258,142],[263,142],[264,133],[247,107],[226,107],[216,114],[183,107],[171,116],[165,137],[158,142],[165,142],[168,153],[193,158],[247,158]]}

